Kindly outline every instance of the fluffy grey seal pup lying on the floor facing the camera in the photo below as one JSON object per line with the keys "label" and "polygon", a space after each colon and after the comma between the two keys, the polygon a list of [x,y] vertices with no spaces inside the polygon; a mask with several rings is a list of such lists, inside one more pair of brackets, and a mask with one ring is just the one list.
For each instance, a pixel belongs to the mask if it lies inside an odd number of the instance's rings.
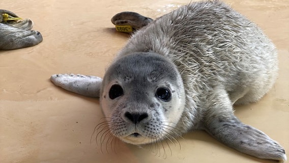
{"label": "fluffy grey seal pup lying on the floor facing the camera", "polygon": [[[219,1],[180,7],[136,31],[97,76],[54,74],[66,90],[100,98],[114,137],[140,145],[195,129],[240,152],[283,162],[284,149],[242,123],[233,104],[261,99],[278,70],[274,44],[255,23]],[[101,130],[101,129],[100,129]],[[107,129],[99,133],[112,139]]]}

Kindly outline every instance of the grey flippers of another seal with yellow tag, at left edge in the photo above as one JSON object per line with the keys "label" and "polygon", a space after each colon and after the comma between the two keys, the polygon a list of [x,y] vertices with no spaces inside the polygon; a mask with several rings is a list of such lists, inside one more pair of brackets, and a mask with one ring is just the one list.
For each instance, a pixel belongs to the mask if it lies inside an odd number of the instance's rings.
{"label": "grey flippers of another seal with yellow tag, at left edge", "polygon": [[[5,20],[7,15],[9,20]],[[0,50],[11,50],[39,44],[43,38],[40,32],[31,30],[33,21],[19,18],[8,10],[0,10]]]}

